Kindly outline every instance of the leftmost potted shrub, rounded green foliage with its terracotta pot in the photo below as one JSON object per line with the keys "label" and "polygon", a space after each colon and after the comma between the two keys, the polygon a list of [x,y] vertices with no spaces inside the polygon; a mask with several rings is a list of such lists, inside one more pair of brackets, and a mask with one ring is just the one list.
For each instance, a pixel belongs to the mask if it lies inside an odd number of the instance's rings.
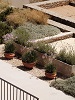
{"label": "leftmost potted shrub, rounded green foliage with its terracotta pot", "polygon": [[15,56],[15,47],[12,42],[5,43],[4,56],[7,59],[12,59]]}

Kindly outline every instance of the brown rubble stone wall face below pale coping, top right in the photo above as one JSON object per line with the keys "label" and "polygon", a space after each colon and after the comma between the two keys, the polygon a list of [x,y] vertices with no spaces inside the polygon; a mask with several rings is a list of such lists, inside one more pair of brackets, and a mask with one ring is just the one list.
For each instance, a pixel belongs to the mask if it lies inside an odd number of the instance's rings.
{"label": "brown rubble stone wall face below pale coping, top right", "polygon": [[39,6],[45,9],[50,9],[50,8],[55,8],[55,7],[68,5],[68,4],[69,4],[69,0],[62,0],[62,1],[52,2],[52,3],[42,4]]}

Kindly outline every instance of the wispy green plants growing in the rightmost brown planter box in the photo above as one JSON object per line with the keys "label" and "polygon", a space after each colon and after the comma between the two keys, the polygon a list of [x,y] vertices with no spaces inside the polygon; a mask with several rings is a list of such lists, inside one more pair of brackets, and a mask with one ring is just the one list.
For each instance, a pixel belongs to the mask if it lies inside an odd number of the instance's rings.
{"label": "wispy green plants growing in the rightmost brown planter box", "polygon": [[75,52],[73,51],[67,52],[65,49],[62,49],[56,56],[56,59],[61,60],[70,65],[75,65]]}

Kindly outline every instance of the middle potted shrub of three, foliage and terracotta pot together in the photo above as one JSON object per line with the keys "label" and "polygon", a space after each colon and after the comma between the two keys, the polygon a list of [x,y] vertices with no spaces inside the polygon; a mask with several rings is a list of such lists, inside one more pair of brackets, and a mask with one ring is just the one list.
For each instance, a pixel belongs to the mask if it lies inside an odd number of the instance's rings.
{"label": "middle potted shrub of three, foliage and terracotta pot together", "polygon": [[35,50],[31,50],[22,55],[23,65],[29,69],[32,69],[35,66],[37,60],[37,53]]}

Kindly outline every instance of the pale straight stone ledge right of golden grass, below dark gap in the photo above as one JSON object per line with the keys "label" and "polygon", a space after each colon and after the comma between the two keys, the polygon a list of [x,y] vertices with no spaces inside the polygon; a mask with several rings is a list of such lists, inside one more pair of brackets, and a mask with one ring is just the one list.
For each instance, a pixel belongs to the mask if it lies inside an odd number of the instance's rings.
{"label": "pale straight stone ledge right of golden grass, below dark gap", "polygon": [[56,26],[56,27],[58,27],[60,29],[75,33],[75,28],[72,28],[70,26],[64,25],[62,23],[59,23],[59,22],[56,22],[56,21],[53,21],[53,20],[50,20],[50,19],[47,20],[47,23],[51,24],[53,26]]}

